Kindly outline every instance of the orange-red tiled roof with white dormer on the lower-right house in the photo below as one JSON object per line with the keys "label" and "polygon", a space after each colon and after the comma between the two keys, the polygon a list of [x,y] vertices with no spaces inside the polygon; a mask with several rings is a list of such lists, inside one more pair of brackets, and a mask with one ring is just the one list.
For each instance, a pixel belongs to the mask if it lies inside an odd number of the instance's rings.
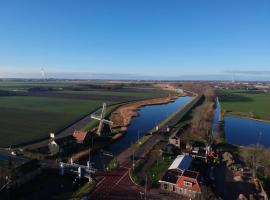
{"label": "orange-red tiled roof with white dormer on the lower-right house", "polygon": [[[198,172],[185,170],[183,174],[178,178],[176,184],[178,185],[179,188],[191,190],[194,192],[201,192],[200,185],[198,183],[198,176],[199,176]],[[187,186],[185,185],[185,182],[189,182],[192,185]]]}

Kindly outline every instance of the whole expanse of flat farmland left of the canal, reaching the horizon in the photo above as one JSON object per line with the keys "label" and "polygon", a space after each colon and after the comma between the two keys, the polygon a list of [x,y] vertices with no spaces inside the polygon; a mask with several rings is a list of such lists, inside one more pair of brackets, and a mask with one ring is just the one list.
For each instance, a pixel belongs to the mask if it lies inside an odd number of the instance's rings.
{"label": "whole expanse of flat farmland left of the canal, reaching the horizon", "polygon": [[[1,90],[12,93],[0,93],[0,147],[41,139],[50,132],[57,133],[99,108],[103,102],[110,105],[168,95],[168,92],[153,87],[123,88],[82,81],[0,81]],[[113,108],[115,106],[108,107],[108,111]],[[91,123],[82,128],[89,127],[92,127]]]}

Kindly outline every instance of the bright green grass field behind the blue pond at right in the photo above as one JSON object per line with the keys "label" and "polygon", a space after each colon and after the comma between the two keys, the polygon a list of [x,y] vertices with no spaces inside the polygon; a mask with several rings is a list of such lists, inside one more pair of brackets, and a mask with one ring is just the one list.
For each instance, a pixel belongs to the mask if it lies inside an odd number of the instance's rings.
{"label": "bright green grass field behind the blue pond at right", "polygon": [[270,120],[270,94],[246,90],[218,90],[226,114]]}

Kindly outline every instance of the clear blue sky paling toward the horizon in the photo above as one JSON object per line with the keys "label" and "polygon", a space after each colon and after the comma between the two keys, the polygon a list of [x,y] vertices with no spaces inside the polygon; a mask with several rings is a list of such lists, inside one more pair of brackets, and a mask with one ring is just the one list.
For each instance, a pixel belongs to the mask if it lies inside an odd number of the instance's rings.
{"label": "clear blue sky paling toward the horizon", "polygon": [[269,0],[0,0],[0,77],[270,80]]}

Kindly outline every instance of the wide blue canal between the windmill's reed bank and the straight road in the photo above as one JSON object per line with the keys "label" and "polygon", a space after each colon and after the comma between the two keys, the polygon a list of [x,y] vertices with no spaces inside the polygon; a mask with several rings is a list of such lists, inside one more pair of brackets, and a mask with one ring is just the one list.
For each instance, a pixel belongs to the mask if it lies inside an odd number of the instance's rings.
{"label": "wide blue canal between the windmill's reed bank and the straight road", "polygon": [[[191,98],[192,97],[190,96],[179,97],[175,101],[168,104],[149,105],[140,108],[138,110],[139,115],[132,119],[127,133],[121,139],[106,147],[104,149],[106,153],[97,151],[91,155],[90,159],[93,167],[96,169],[104,168],[113,156],[117,156],[132,144],[136,143],[138,139],[143,137],[156,125],[165,120],[176,110],[186,105]],[[110,154],[112,156],[110,156]],[[85,158],[81,160],[80,163],[86,164],[88,160],[88,158]]]}

